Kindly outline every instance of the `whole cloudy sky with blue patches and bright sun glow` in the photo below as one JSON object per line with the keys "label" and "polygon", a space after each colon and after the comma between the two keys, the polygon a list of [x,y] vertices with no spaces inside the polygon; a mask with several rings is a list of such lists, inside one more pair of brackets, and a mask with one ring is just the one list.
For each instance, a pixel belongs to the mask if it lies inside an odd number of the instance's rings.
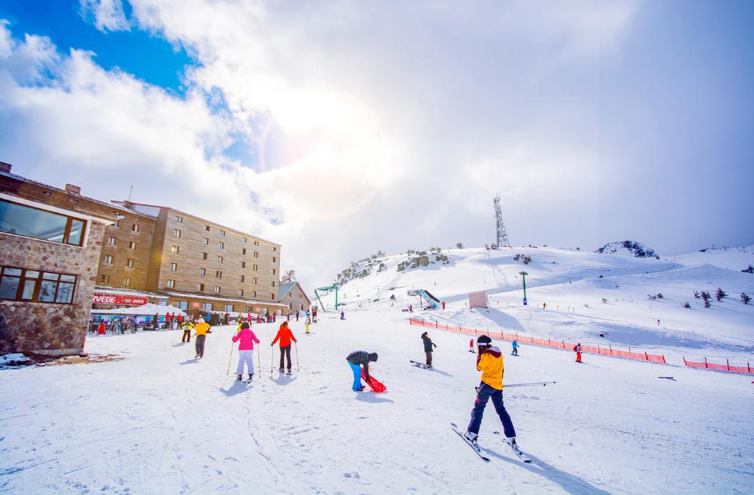
{"label": "whole cloudy sky with blue patches and bright sun glow", "polygon": [[352,260],[754,244],[752,2],[2,0],[0,161]]}

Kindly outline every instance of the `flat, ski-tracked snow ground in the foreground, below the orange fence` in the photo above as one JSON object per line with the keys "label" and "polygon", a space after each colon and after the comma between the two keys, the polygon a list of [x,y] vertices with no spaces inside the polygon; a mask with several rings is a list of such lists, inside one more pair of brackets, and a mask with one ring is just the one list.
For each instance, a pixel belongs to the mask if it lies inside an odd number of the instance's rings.
{"label": "flat, ski-tracked snow ground in the foreground, below the orange fence", "polygon": [[[530,309],[530,311],[533,311]],[[431,331],[435,370],[398,311],[320,318],[299,336],[292,377],[269,372],[277,324],[254,325],[262,369],[228,368],[234,327],[205,358],[178,331],[90,338],[122,361],[0,370],[0,490],[10,493],[751,493],[750,378],[523,346],[504,353],[504,390],[524,464],[489,403],[483,463],[449,429],[467,424],[480,374],[468,337]],[[507,345],[507,343],[501,343]],[[345,356],[379,352],[388,392],[351,391]],[[256,356],[254,358],[257,365]],[[277,365],[277,363],[276,363]],[[664,372],[663,372],[664,373]],[[18,400],[8,401],[8,398]]]}

